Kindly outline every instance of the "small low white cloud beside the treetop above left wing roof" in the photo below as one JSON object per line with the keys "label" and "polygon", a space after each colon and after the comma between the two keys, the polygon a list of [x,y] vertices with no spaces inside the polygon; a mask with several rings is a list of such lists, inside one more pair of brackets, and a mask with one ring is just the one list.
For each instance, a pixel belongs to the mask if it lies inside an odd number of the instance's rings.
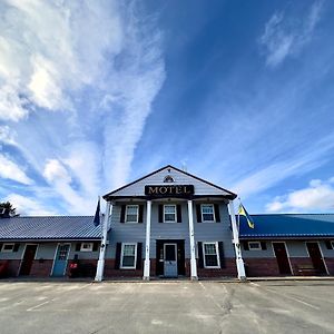
{"label": "small low white cloud beside the treetop above left wing roof", "polygon": [[4,200],[9,200],[21,216],[53,216],[55,212],[45,208],[45,204],[19,194],[9,194]]}

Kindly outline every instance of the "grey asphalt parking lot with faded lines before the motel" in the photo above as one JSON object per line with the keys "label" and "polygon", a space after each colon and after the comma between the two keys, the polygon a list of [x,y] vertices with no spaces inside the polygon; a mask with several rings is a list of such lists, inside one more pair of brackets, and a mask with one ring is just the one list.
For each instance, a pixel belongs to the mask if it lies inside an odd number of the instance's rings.
{"label": "grey asphalt parking lot with faded lines before the motel", "polygon": [[334,333],[334,281],[0,282],[0,333]]}

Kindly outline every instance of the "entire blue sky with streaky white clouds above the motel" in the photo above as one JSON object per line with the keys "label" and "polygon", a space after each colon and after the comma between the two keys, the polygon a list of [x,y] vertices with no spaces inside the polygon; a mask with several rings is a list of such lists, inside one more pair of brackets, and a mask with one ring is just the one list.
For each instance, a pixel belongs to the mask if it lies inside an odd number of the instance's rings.
{"label": "entire blue sky with streaky white clouds above the motel", "polygon": [[0,199],[94,214],[167,164],[334,212],[332,1],[2,1]]}

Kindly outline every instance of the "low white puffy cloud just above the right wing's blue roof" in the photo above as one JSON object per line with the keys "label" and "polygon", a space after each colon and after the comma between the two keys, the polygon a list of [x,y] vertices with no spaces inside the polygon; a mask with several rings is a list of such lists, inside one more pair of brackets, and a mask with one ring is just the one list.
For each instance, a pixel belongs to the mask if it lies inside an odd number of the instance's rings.
{"label": "low white puffy cloud just above the right wing's blue roof", "polygon": [[334,209],[333,178],[313,179],[308,187],[289,191],[266,205],[267,212],[311,212]]}

